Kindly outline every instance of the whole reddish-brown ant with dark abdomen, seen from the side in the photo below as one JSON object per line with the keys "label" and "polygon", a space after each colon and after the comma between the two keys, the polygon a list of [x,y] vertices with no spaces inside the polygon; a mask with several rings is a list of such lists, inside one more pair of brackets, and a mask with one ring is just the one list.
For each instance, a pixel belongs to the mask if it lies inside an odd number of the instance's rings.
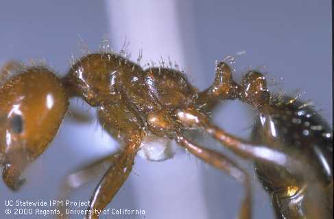
{"label": "whole reddish-brown ant with dark abdomen, seen from the side", "polygon": [[[254,162],[270,194],[276,218],[333,217],[333,134],[329,125],[296,98],[275,96],[263,74],[250,70],[241,83],[226,62],[217,62],[213,84],[200,92],[179,70],[139,64],[115,53],[91,53],[77,60],[63,78],[44,66],[8,64],[2,75],[14,76],[0,88],[0,162],[3,181],[12,190],[21,173],[47,149],[69,106],[80,96],[97,107],[99,122],[123,149],[91,196],[86,218],[98,218],[128,178],[134,157],[147,136],[176,140],[178,145],[222,170],[245,187],[239,219],[252,218],[250,176],[222,153],[186,136],[202,130],[237,155]],[[219,101],[236,99],[259,112],[250,142],[213,125],[209,114]],[[321,205],[319,205],[321,203]]]}

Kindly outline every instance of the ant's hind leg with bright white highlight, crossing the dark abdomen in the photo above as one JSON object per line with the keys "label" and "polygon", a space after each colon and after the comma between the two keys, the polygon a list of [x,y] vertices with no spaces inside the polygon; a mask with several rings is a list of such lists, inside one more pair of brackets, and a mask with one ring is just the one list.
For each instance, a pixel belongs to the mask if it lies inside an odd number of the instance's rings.
{"label": "ant's hind leg with bright white highlight, crossing the dark abdomen", "polygon": [[[311,193],[308,192],[307,195],[312,195],[312,197],[307,198],[307,218],[328,218],[324,216],[325,214],[320,211],[318,206],[319,203],[323,203],[323,201],[320,200],[326,201],[329,200],[329,198],[322,197],[324,193],[319,192],[322,185],[320,180],[316,177],[317,169],[311,165],[309,159],[291,150],[287,151],[288,153],[283,153],[270,146],[252,144],[241,138],[232,136],[222,129],[219,129],[219,127],[209,123],[208,118],[204,114],[194,109],[177,110],[175,116],[178,122],[184,127],[203,129],[237,155],[251,159],[254,162],[274,164],[275,166],[285,168],[292,175],[303,177],[306,185],[309,185],[311,188],[311,190],[309,190]],[[281,200],[281,198],[279,200]],[[296,201],[294,199],[292,200]],[[281,207],[279,207],[279,209],[281,209]]]}

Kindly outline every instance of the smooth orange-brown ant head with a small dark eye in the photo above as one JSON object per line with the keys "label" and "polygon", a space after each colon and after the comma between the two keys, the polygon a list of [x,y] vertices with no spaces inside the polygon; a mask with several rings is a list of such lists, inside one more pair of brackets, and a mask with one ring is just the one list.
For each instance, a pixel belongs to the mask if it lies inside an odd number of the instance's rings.
{"label": "smooth orange-brown ant head with a small dark eye", "polygon": [[43,67],[28,68],[0,88],[0,162],[12,190],[21,173],[45,151],[67,110],[67,93]]}

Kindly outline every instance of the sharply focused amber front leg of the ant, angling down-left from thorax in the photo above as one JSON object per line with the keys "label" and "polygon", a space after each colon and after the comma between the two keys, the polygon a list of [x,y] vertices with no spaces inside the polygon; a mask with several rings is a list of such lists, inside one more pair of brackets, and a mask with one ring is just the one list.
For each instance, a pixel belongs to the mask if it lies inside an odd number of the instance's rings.
{"label": "sharply focused amber front leg of the ant, angling down-left from thorax", "polygon": [[[138,114],[123,99],[118,103],[104,103],[99,107],[99,121],[112,136],[123,134],[124,147],[97,185],[91,197],[87,219],[99,218],[101,212],[128,179],[134,157],[144,136],[143,122]],[[120,138],[120,137],[118,137]]]}

